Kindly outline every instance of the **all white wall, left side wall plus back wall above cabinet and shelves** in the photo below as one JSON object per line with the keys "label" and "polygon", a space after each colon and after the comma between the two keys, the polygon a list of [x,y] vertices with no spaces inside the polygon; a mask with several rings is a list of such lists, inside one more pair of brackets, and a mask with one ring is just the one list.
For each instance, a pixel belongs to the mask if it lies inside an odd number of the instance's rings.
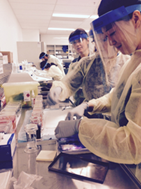
{"label": "all white wall, left side wall plus back wall above cabinet and shelves", "polygon": [[[7,0],[0,0],[0,51],[13,53],[18,62],[17,42],[45,42],[46,45],[68,45],[68,35],[39,35],[38,30],[22,29]],[[45,46],[45,45],[44,45]]]}

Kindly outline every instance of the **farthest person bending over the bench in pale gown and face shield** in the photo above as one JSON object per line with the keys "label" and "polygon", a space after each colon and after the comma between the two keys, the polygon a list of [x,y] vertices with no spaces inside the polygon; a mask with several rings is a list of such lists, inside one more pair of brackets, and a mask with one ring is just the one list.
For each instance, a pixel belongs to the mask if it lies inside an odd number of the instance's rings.
{"label": "farthest person bending over the bench in pale gown and face shield", "polygon": [[46,62],[49,64],[54,63],[61,70],[62,74],[65,75],[63,65],[61,64],[61,61],[57,57],[41,52],[39,55],[39,59],[42,60],[42,62],[40,63],[41,69],[43,67],[42,65],[44,65],[44,63]]}

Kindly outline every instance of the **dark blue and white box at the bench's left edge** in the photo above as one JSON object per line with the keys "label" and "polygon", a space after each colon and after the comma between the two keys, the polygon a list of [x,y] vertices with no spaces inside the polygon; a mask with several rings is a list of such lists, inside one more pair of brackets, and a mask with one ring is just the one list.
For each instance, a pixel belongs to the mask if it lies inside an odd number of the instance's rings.
{"label": "dark blue and white box at the bench's left edge", "polygon": [[0,141],[0,169],[13,168],[13,156],[16,149],[15,134],[4,134]]}

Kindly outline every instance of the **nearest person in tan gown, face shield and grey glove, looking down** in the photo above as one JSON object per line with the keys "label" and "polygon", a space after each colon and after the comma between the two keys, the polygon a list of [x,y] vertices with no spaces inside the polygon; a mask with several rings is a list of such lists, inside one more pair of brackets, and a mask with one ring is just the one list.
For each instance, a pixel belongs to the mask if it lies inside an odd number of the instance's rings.
{"label": "nearest person in tan gown, face shield and grey glove, looking down", "polygon": [[[97,42],[107,40],[123,54],[132,54],[122,67],[115,88],[88,102],[89,113],[110,112],[111,120],[83,117],[69,125],[60,123],[55,133],[65,137],[79,132],[82,144],[97,156],[116,163],[138,164],[141,162],[141,1],[102,0],[98,14],[100,17],[92,22]],[[71,128],[70,134],[67,128]]]}

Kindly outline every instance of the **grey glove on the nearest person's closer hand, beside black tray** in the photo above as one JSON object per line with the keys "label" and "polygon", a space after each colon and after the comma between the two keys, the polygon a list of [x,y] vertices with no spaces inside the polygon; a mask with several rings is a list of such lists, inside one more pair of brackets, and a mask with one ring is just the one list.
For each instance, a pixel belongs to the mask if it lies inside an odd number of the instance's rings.
{"label": "grey glove on the nearest person's closer hand, beside black tray", "polygon": [[80,119],[60,121],[55,129],[56,138],[69,137],[78,133]]}

